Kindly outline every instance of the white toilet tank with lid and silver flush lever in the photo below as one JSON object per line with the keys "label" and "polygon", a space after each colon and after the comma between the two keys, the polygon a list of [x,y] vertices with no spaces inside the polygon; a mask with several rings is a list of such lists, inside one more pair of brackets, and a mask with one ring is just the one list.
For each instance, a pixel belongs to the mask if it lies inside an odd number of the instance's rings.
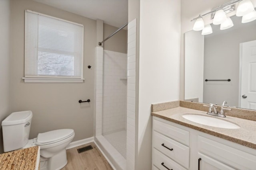
{"label": "white toilet tank with lid and silver flush lever", "polygon": [[4,152],[24,147],[28,143],[32,111],[11,113],[2,121]]}

